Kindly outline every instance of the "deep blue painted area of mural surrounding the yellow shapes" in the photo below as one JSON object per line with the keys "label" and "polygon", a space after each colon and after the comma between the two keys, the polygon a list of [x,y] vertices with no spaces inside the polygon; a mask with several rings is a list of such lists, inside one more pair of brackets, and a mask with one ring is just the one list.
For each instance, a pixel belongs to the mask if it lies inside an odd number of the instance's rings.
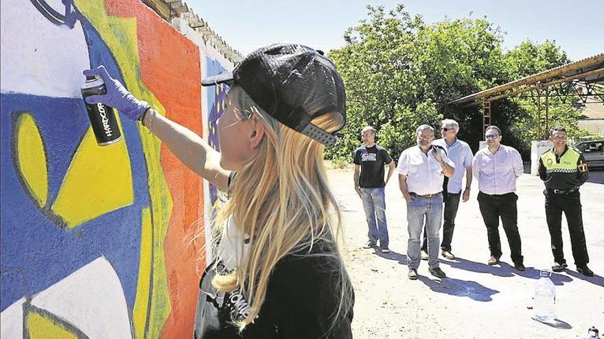
{"label": "deep blue painted area of mural surrounding the yellow shapes", "polygon": [[[104,64],[121,81],[113,55],[100,36],[81,16],[80,22],[89,45],[91,66]],[[146,160],[136,123],[121,116],[132,173],[136,173],[132,176],[134,205],[69,231],[61,227],[49,207],[89,127],[83,101],[19,93],[1,93],[0,101],[0,311],[21,297],[49,288],[104,255],[117,272],[132,312],[140,260],[141,210],[150,204]],[[15,171],[12,121],[19,112],[31,112],[46,149],[49,194],[43,209],[30,199]]]}

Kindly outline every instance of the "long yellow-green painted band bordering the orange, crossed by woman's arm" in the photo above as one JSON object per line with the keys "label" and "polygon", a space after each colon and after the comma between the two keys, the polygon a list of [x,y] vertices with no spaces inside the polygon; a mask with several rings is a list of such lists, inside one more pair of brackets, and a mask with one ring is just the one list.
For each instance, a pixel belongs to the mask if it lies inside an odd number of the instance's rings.
{"label": "long yellow-green painted band bordering the orange, crossed by woman's arm", "polygon": [[[165,116],[165,108],[161,102],[143,85],[140,79],[136,18],[108,16],[102,0],[75,0],[75,6],[95,27],[111,50],[119,65],[126,88],[135,97],[147,101],[159,114]],[[148,312],[149,325],[146,336],[159,338],[165,319],[170,314],[170,296],[167,290],[163,249],[173,203],[160,162],[161,141],[144,127],[140,125],[138,127],[147,162],[153,234],[152,282],[149,287],[152,290],[150,292],[151,310]]]}

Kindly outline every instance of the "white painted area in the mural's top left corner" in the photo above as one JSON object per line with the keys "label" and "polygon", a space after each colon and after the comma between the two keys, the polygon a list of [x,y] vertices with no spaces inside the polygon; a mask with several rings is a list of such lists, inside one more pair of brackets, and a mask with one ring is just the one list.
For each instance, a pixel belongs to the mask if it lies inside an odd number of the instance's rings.
{"label": "white painted area in the mural's top left corner", "polygon": [[25,0],[2,0],[0,12],[0,92],[80,98],[90,67],[82,25],[54,25]]}

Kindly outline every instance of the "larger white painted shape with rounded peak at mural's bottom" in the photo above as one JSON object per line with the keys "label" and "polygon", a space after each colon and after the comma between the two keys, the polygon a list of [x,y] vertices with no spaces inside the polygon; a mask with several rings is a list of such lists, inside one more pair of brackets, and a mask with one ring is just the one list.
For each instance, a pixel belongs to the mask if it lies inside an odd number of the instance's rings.
{"label": "larger white painted shape with rounded peak at mural's bottom", "polygon": [[64,319],[91,339],[132,338],[124,290],[104,257],[40,292],[32,305]]}

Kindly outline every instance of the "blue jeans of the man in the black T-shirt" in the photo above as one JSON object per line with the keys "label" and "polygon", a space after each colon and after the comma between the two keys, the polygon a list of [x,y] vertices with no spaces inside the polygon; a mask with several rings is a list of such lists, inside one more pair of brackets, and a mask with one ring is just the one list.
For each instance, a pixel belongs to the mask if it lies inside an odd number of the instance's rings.
{"label": "blue jeans of the man in the black T-shirt", "polygon": [[[386,199],[384,188],[361,188],[361,200],[369,226],[369,240],[380,240],[382,249],[388,248],[388,223],[386,223]],[[375,220],[377,219],[377,223]]]}

